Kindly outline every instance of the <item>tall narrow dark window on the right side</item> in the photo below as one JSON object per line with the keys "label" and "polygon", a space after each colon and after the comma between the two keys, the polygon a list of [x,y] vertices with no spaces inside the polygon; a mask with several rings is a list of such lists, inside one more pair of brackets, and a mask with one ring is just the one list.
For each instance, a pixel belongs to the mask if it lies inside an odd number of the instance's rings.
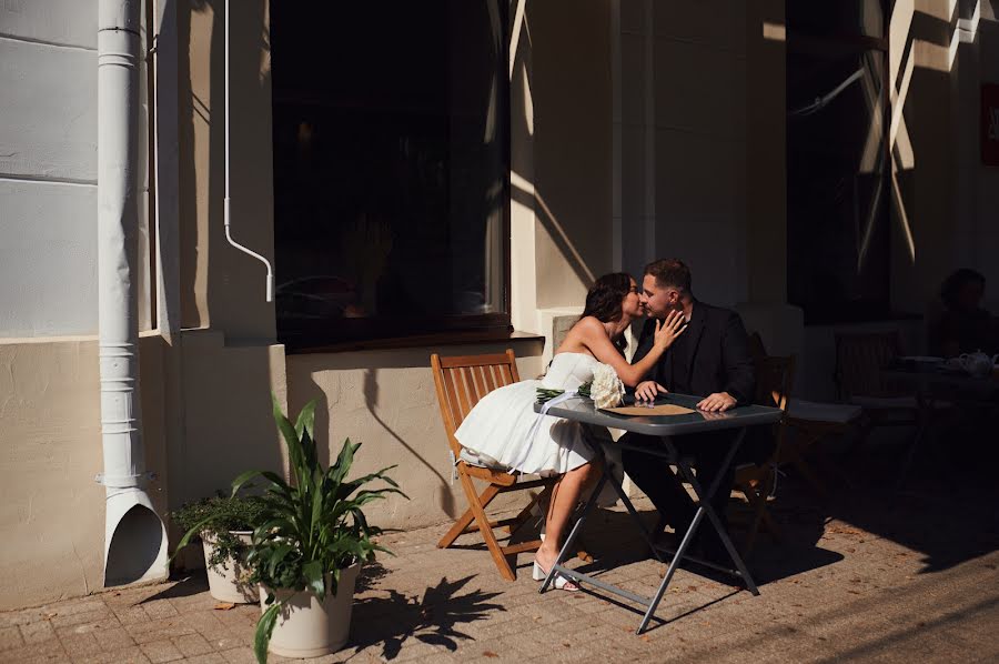
{"label": "tall narrow dark window on the right side", "polygon": [[787,3],[788,301],[806,323],[889,313],[881,0]]}

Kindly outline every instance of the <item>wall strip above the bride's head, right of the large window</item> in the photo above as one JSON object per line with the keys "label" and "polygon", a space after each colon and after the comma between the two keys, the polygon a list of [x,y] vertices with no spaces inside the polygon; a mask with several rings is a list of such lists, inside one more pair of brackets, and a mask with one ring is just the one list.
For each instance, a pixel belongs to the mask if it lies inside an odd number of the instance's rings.
{"label": "wall strip above the bride's head, right of the large window", "polygon": [[553,311],[614,265],[610,2],[511,13],[513,324],[551,338]]}

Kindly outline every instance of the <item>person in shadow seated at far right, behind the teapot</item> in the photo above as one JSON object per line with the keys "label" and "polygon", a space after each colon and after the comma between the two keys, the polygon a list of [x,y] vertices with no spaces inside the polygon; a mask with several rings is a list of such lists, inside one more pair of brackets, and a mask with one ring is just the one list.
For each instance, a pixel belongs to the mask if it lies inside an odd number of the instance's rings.
{"label": "person in shadow seated at far right, behind the teapot", "polygon": [[930,353],[956,358],[961,353],[999,352],[999,328],[992,315],[981,308],[985,276],[961,268],[948,276],[940,288],[944,313],[930,331]]}

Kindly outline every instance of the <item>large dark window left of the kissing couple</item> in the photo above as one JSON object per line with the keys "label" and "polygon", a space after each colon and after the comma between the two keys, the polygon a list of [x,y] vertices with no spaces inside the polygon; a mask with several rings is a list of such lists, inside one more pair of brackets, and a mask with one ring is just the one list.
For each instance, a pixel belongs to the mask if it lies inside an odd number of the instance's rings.
{"label": "large dark window left of the kissing couple", "polygon": [[509,330],[506,3],[271,6],[278,334]]}

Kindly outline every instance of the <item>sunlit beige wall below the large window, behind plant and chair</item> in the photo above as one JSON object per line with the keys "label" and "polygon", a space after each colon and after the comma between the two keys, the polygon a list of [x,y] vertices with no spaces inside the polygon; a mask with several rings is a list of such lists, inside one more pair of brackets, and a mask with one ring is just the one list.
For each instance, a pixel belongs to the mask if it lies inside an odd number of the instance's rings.
{"label": "sunlit beige wall below the large window, behind plant and chair", "polygon": [[[306,402],[319,400],[316,441],[327,453],[324,461],[335,457],[346,437],[362,443],[352,475],[398,464],[392,476],[411,500],[392,496],[371,505],[366,513],[372,523],[382,527],[442,523],[467,504],[461,485],[451,484],[450,447],[430,355],[496,353],[506,348],[509,344],[290,355],[289,408],[297,414]],[[539,342],[519,341],[512,348],[522,379],[542,373]]]}

